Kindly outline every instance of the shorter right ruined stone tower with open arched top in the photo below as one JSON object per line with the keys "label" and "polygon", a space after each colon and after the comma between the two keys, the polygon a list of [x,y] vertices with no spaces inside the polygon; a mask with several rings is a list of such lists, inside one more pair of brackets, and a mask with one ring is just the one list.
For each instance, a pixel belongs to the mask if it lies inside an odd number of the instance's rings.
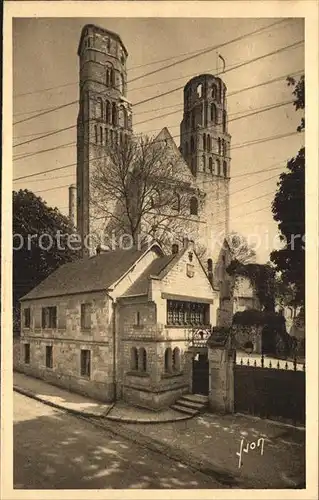
{"label": "shorter right ruined stone tower with open arched top", "polygon": [[216,238],[228,233],[230,139],[225,84],[213,75],[192,78],[184,87],[181,152],[204,193],[199,237],[212,257]]}

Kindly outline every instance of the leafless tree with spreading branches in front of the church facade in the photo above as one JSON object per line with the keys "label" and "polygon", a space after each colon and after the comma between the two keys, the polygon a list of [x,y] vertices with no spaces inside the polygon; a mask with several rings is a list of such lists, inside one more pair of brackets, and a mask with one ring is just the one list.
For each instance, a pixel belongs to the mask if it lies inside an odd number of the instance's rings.
{"label": "leafless tree with spreading branches in front of the church facade", "polygon": [[134,244],[153,237],[164,246],[189,234],[191,198],[201,200],[173,141],[132,136],[106,156],[93,161],[90,201],[109,234],[128,235]]}

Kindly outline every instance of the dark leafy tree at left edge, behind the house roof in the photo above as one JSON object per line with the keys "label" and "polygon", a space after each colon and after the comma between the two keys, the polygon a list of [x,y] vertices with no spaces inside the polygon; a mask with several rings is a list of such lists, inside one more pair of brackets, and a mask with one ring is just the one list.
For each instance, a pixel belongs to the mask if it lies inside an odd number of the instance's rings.
{"label": "dark leafy tree at left edge, behind the house roof", "polygon": [[[19,325],[19,299],[60,265],[80,256],[67,217],[31,191],[13,191],[13,307]],[[78,240],[79,242],[79,240]]]}

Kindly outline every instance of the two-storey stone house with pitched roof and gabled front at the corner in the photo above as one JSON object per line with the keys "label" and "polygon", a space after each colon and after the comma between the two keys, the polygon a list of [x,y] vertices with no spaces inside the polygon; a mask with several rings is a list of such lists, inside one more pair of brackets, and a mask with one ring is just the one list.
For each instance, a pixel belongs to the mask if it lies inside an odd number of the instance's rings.
{"label": "two-storey stone house with pitched roof and gabled front at the corner", "polygon": [[217,324],[193,244],[68,263],[21,299],[19,370],[101,401],[154,410],[192,391],[189,339]]}

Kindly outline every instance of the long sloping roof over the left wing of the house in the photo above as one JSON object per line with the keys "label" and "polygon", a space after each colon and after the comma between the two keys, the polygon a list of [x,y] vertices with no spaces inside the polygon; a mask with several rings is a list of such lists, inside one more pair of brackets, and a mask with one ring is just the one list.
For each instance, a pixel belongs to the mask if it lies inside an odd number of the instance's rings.
{"label": "long sloping roof over the left wing of the house", "polygon": [[107,290],[145,253],[145,250],[114,250],[64,264],[21,300]]}

